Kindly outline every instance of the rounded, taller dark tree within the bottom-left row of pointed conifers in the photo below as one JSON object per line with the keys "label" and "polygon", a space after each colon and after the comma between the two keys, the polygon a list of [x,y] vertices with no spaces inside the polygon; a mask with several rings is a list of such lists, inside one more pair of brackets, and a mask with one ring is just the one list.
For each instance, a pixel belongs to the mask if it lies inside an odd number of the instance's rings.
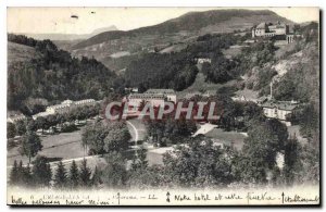
{"label": "rounded, taller dark tree within the bottom-left row of pointed conifers", "polygon": [[33,179],[35,185],[49,186],[52,179],[52,171],[47,157],[38,155],[33,161]]}

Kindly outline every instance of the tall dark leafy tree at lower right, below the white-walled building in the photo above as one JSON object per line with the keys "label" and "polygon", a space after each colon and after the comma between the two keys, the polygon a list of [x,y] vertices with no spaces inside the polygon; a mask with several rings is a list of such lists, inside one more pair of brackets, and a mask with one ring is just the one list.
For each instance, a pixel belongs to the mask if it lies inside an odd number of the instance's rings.
{"label": "tall dark leafy tree at lower right, below the white-walled building", "polygon": [[287,129],[278,121],[255,121],[250,125],[239,162],[243,183],[266,183],[267,173],[274,170],[276,154],[284,149],[286,137]]}

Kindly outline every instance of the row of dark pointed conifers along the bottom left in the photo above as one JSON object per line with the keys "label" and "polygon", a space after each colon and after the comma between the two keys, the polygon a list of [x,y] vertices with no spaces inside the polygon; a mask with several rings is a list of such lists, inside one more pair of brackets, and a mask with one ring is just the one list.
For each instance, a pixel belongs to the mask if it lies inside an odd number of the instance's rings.
{"label": "row of dark pointed conifers along the bottom left", "polygon": [[12,186],[22,186],[27,188],[53,187],[60,190],[90,188],[96,187],[101,182],[100,173],[96,167],[93,174],[87,166],[87,160],[83,160],[79,167],[73,161],[70,169],[60,161],[57,164],[55,172],[52,172],[49,159],[38,155],[33,161],[33,167],[29,164],[24,165],[22,161],[14,161],[10,172],[10,184]]}

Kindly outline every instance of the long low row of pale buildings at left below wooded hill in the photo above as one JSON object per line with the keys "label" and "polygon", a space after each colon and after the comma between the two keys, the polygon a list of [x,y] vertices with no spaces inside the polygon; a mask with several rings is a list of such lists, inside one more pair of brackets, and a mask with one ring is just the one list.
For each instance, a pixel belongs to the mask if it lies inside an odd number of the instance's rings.
{"label": "long low row of pale buildings at left below wooded hill", "polygon": [[93,99],[84,99],[84,100],[79,100],[79,101],[72,101],[72,100],[67,99],[67,100],[64,100],[63,102],[61,102],[61,104],[54,104],[54,105],[47,107],[45,112],[40,112],[40,113],[33,115],[33,119],[36,120],[37,117],[40,117],[40,116],[45,117],[45,116],[52,115],[52,114],[66,113],[74,108],[84,107],[84,105],[92,105],[95,103],[96,103],[96,100],[93,100]]}

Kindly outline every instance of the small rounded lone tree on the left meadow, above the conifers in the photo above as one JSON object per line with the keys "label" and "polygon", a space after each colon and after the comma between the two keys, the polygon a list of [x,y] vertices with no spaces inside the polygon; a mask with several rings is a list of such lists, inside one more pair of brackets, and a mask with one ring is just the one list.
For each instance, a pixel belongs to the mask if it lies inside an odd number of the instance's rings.
{"label": "small rounded lone tree on the left meadow, above the conifers", "polygon": [[20,147],[21,154],[28,157],[28,161],[30,163],[30,159],[34,158],[41,149],[41,140],[36,133],[27,132],[22,139],[22,146]]}

